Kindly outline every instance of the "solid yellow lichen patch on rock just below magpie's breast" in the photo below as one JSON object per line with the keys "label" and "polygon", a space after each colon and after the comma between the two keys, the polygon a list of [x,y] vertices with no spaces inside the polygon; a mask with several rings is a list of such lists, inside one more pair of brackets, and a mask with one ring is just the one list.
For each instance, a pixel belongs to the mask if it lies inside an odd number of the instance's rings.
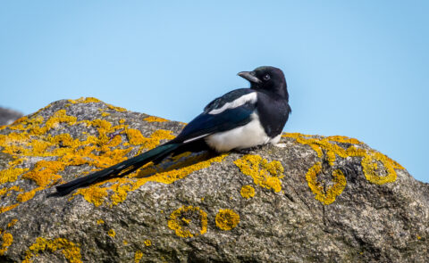
{"label": "solid yellow lichen patch on rock just below magpie's breast", "polygon": [[278,193],[282,191],[282,181],[284,168],[278,160],[268,162],[259,155],[245,155],[238,160],[234,160],[241,172],[249,177],[253,177],[256,185],[267,189],[273,189]]}

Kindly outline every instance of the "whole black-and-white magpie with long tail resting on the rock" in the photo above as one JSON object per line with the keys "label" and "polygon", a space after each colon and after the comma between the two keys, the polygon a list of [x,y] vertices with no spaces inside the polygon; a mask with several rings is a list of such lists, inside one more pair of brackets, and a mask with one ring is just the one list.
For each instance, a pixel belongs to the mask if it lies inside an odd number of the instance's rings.
{"label": "whole black-and-white magpie with long tail resting on the rock", "polygon": [[107,177],[123,177],[150,161],[159,163],[181,152],[229,152],[261,144],[276,144],[290,115],[286,79],[280,69],[258,67],[238,73],[250,82],[214,99],[183,128],[179,136],[109,168],[57,185],[59,195]]}

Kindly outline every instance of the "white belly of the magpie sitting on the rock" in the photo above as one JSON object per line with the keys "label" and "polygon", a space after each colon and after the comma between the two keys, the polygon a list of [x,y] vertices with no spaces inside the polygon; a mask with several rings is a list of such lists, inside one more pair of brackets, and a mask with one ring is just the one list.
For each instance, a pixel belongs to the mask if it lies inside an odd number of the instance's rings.
{"label": "white belly of the magpie sitting on the rock", "polygon": [[273,139],[266,136],[257,114],[253,113],[251,118],[252,120],[244,126],[206,136],[206,144],[217,152],[228,152],[232,149],[250,148],[267,143],[275,144],[279,141],[280,136]]}

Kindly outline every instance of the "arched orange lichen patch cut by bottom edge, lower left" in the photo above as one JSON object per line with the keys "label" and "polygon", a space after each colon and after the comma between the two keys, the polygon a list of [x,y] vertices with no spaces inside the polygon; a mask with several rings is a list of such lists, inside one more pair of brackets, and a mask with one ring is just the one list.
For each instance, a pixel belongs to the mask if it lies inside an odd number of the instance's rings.
{"label": "arched orange lichen patch cut by bottom edge, lower left", "polygon": [[38,253],[42,251],[59,251],[70,263],[81,263],[80,247],[74,242],[70,242],[65,238],[55,238],[54,240],[46,240],[43,237],[38,237],[36,242],[29,246],[29,250],[25,252],[26,257],[22,263],[32,262],[32,258],[38,257]]}

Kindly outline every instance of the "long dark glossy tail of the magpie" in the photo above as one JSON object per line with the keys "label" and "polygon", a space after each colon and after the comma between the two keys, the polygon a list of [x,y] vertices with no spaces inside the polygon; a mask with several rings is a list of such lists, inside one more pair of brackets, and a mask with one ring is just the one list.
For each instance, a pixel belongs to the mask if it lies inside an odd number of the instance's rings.
{"label": "long dark glossy tail of the magpie", "polygon": [[99,170],[86,177],[77,178],[69,183],[56,186],[57,195],[65,195],[74,189],[80,188],[85,185],[90,185],[98,180],[106,177],[114,177],[120,175],[121,177],[132,173],[141,166],[147,164],[151,160],[160,160],[168,154],[176,150],[181,144],[164,144],[152,149],[148,152],[139,154],[129,160],[124,160],[109,168]]}

